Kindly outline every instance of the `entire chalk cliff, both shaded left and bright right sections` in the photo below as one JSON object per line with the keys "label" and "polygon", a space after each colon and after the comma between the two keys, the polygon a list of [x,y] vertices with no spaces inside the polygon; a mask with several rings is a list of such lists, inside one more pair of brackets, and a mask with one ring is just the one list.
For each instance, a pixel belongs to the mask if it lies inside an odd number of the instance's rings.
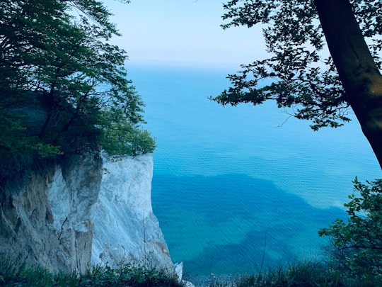
{"label": "entire chalk cliff, both shaded left and bright right sections", "polygon": [[172,268],[152,213],[152,170],[151,154],[103,165],[93,150],[3,183],[0,255],[54,272],[122,259]]}

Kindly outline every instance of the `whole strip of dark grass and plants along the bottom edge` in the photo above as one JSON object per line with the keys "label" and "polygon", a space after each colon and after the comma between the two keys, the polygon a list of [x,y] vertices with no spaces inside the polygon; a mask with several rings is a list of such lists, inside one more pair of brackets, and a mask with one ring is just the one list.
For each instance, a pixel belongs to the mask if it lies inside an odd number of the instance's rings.
{"label": "whole strip of dark grass and plants along the bottom edge", "polygon": [[[90,287],[90,286],[137,286],[181,287],[178,278],[166,271],[159,271],[133,264],[94,266],[85,274],[52,274],[47,269],[30,266],[16,267],[14,261],[0,261],[0,286],[17,287]],[[272,267],[258,274],[236,276],[211,276],[195,281],[203,287],[378,287],[382,276],[350,276],[346,271],[322,261],[298,261],[285,266]]]}

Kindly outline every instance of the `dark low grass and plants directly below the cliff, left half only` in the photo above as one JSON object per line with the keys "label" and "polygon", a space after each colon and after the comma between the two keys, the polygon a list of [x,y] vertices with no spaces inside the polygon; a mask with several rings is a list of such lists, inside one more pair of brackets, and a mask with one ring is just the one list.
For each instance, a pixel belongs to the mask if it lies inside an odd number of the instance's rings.
{"label": "dark low grass and plants directly below the cliff, left half only", "polygon": [[0,286],[12,287],[90,287],[90,286],[137,286],[154,287],[183,286],[177,276],[154,268],[120,264],[112,269],[110,266],[94,266],[85,274],[52,274],[47,269],[30,266],[16,267],[11,260],[0,262]]}

